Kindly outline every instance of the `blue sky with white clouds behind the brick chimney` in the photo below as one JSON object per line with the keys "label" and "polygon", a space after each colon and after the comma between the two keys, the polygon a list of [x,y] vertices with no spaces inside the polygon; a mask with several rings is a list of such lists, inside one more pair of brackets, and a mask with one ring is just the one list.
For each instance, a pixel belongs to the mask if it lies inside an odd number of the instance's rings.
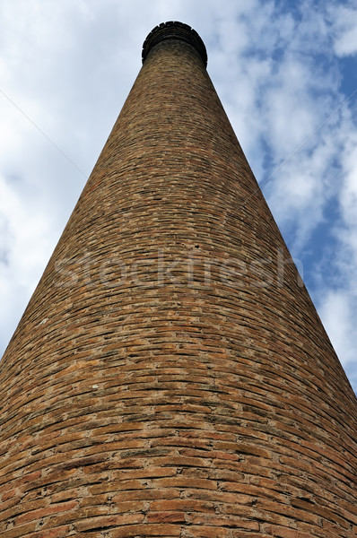
{"label": "blue sky with white clouds behind the brick chimney", "polygon": [[357,5],[1,0],[0,355],[141,67],[186,22],[357,391]]}

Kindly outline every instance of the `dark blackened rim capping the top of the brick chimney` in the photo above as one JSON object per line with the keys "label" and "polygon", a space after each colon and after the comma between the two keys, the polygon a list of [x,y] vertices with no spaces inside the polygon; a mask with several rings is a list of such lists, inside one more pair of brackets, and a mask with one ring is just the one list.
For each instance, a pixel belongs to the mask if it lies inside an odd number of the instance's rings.
{"label": "dark blackened rim capping the top of the brick chimney", "polygon": [[196,48],[196,51],[201,56],[205,67],[207,66],[207,52],[205,50],[205,43],[203,40],[199,37],[196,30],[193,30],[190,26],[184,24],[183,22],[176,21],[161,22],[159,26],[156,26],[150,32],[150,34],[144,40],[142,53],[143,64],[151,49],[166,39],[179,39],[180,41],[186,41],[186,43],[189,43],[189,45],[191,45],[193,48]]}

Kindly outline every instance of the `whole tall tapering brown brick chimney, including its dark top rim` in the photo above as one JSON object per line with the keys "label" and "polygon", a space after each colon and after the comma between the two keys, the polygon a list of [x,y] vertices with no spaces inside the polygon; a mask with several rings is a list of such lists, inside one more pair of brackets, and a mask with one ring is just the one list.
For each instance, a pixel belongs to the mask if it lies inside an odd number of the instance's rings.
{"label": "whole tall tapering brown brick chimney, including its dark top rim", "polygon": [[175,22],[1,363],[3,538],[351,538],[356,400]]}

